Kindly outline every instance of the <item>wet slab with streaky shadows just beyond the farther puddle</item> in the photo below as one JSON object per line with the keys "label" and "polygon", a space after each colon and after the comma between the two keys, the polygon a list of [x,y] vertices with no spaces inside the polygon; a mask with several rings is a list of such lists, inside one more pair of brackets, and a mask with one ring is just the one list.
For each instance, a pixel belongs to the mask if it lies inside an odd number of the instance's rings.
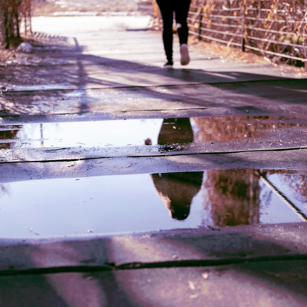
{"label": "wet slab with streaky shadows just beyond the farther puddle", "polygon": [[[65,86],[70,88],[70,84]],[[57,86],[52,84],[51,87],[53,90],[2,91],[0,115],[108,112],[116,116],[117,113],[130,112],[126,117],[133,117],[141,112],[152,112],[156,116],[160,114],[160,117],[164,113],[184,116],[180,110],[194,111],[196,116],[202,116],[204,112],[209,114],[208,111],[212,115],[243,115],[247,112],[255,115],[306,113],[305,80],[270,81],[265,85],[263,82],[217,82],[145,88],[72,87],[69,90],[57,90]],[[206,109],[210,110],[204,111]],[[176,113],[177,110],[180,113]]]}

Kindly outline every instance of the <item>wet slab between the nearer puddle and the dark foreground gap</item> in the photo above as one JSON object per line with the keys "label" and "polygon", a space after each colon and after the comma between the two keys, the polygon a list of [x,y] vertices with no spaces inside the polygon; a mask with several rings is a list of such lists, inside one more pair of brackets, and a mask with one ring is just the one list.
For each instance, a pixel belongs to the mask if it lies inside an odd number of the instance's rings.
{"label": "wet slab between the nearer puddle and the dark foreground gap", "polygon": [[277,223],[50,238],[32,233],[1,239],[1,275],[305,259],[305,228]]}

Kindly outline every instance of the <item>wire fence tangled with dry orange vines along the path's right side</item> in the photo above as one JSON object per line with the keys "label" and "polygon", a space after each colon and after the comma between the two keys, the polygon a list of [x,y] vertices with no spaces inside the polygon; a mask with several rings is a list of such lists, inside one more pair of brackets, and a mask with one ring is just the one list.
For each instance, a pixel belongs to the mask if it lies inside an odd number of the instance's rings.
{"label": "wire fence tangled with dry orange vines along the path's right side", "polygon": [[307,66],[307,0],[192,0],[188,26],[200,40]]}

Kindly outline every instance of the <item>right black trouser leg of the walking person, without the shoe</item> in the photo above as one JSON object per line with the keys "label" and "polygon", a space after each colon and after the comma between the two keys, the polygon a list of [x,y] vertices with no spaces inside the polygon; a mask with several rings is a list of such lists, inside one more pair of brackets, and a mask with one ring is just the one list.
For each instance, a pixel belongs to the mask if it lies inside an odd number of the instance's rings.
{"label": "right black trouser leg of the walking person, without the shoe", "polygon": [[190,8],[191,0],[178,0],[175,7],[175,18],[177,24],[181,24],[178,30],[180,45],[188,43],[188,24],[187,17]]}

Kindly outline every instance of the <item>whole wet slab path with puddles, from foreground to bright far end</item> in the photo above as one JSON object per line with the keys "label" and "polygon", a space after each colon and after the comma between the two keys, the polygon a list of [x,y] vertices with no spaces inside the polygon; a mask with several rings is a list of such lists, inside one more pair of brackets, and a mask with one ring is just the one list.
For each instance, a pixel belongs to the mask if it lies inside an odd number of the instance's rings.
{"label": "whole wet slab path with puddles, from foreground to bright far end", "polygon": [[2,63],[1,304],[305,306],[306,79],[110,15]]}

